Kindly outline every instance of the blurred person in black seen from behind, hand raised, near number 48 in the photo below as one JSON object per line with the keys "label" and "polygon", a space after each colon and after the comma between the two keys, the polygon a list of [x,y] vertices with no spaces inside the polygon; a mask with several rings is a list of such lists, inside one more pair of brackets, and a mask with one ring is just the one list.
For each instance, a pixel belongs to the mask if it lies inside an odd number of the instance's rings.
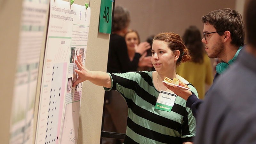
{"label": "blurred person in black seen from behind, hand raised, near number 48", "polygon": [[138,44],[134,49],[134,57],[132,61],[130,60],[124,39],[129,24],[129,11],[121,6],[116,6],[112,21],[112,34],[109,39],[107,72],[124,73],[137,70],[140,57],[150,49],[150,44],[147,42]]}

